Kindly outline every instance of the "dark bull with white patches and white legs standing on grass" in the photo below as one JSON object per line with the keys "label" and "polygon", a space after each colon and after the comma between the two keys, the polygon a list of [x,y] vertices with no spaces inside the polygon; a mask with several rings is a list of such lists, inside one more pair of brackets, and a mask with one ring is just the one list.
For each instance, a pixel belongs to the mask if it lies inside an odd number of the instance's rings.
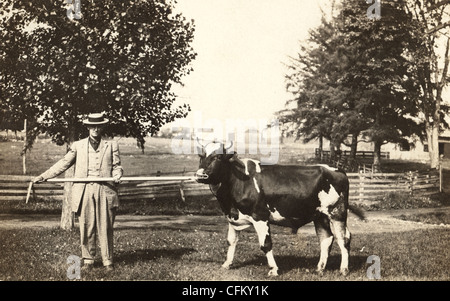
{"label": "dark bull with white patches and white legs standing on grass", "polygon": [[270,224],[297,231],[313,222],[320,242],[317,272],[322,274],[334,239],[341,251],[340,272],[349,273],[351,234],[348,211],[364,219],[362,211],[349,205],[349,181],[342,170],[326,165],[261,165],[229,152],[231,145],[211,142],[199,151],[197,181],[209,184],[228,220],[226,261],[233,263],[238,234],[253,226],[267,257],[269,276],[278,275],[272,251]]}

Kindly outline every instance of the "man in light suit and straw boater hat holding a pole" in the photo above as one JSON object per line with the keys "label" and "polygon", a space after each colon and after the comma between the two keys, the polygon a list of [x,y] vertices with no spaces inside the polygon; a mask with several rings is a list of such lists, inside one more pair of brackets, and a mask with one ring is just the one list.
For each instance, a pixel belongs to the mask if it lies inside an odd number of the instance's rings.
{"label": "man in light suit and straw boater hat holding a pole", "polygon": [[90,114],[83,123],[89,129],[89,137],[74,142],[64,158],[33,182],[54,178],[74,164],[75,178],[92,178],[92,182],[75,182],[72,186],[71,207],[79,216],[83,267],[90,269],[94,264],[98,235],[103,265],[112,270],[113,224],[119,197],[113,182],[96,182],[95,179],[112,177],[115,183],[120,182],[123,169],[119,148],[115,141],[102,139],[108,123],[103,114]]}

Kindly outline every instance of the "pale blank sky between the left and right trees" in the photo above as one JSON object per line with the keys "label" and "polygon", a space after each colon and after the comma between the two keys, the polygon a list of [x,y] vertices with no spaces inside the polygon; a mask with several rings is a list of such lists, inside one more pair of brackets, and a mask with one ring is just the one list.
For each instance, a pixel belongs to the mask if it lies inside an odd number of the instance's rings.
{"label": "pale blank sky between the left and right trees", "polygon": [[[173,90],[177,104],[195,118],[270,120],[290,95],[284,76],[289,57],[308,30],[320,24],[320,4],[311,0],[178,0],[176,10],[194,20],[194,69]],[[169,126],[174,127],[174,124]]]}

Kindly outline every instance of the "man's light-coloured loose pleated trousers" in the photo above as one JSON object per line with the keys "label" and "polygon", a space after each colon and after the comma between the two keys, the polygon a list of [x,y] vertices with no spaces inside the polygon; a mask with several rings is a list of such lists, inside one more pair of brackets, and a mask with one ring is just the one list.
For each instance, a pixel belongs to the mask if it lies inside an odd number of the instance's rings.
{"label": "man's light-coloured loose pleated trousers", "polygon": [[93,264],[97,235],[103,265],[113,264],[113,226],[115,209],[109,208],[100,183],[88,183],[83,194],[79,216],[81,256],[84,264]]}

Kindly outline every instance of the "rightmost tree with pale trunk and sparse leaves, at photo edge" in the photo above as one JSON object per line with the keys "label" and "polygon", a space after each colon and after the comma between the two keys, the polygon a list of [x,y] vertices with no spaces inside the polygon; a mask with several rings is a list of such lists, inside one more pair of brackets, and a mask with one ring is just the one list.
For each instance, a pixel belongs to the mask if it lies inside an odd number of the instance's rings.
{"label": "rightmost tree with pale trunk and sparse leaves, at photo edge", "polygon": [[[442,92],[448,84],[449,69],[449,11],[448,1],[408,1],[406,9],[417,44],[411,54],[415,63],[420,96],[416,105],[422,113],[422,120],[428,142],[431,168],[439,165],[439,134],[447,126],[443,116],[448,108],[442,104]],[[445,17],[447,15],[447,17]]]}

